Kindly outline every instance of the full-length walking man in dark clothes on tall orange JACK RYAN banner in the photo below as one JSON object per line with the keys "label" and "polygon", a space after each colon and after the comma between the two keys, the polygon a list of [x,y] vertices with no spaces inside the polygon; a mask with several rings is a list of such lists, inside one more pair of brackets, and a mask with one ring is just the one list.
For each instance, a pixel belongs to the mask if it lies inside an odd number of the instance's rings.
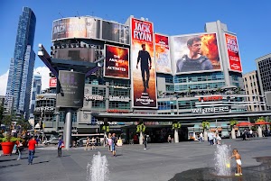
{"label": "full-length walking man in dark clothes on tall orange JACK RYAN banner", "polygon": [[145,50],[145,44],[142,44],[141,47],[142,47],[142,50],[138,51],[136,69],[138,69],[138,63],[140,62],[144,92],[146,92],[146,89],[149,88],[150,69],[152,68],[152,59],[149,52]]}

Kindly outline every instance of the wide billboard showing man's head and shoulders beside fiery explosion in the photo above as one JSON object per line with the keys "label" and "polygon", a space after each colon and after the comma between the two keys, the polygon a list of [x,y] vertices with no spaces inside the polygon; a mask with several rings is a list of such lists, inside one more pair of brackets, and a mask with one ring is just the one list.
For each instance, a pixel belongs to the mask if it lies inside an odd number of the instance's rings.
{"label": "wide billboard showing man's head and shoulders beside fiery explosion", "polygon": [[216,33],[173,36],[172,45],[176,74],[220,69]]}

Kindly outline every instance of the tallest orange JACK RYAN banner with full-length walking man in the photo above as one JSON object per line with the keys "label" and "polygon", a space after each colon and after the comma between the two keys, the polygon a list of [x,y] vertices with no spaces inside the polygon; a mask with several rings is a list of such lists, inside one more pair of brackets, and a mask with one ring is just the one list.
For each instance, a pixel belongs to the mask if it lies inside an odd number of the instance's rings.
{"label": "tallest orange JACK RYAN banner with full-length walking man", "polygon": [[130,18],[132,105],[157,108],[153,23]]}

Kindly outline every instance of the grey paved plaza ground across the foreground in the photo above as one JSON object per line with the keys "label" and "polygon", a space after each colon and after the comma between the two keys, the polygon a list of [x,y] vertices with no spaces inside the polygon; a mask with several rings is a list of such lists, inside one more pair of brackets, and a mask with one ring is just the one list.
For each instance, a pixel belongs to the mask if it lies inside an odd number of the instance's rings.
{"label": "grey paved plaza ground across the foreground", "polygon": [[[257,159],[271,158],[271,137],[244,141],[223,140],[223,143],[238,149],[242,157],[244,176],[221,180],[271,180],[270,166],[259,167],[261,163]],[[185,179],[182,175],[192,176],[201,168],[204,168],[201,169],[202,172],[202,170],[207,170],[205,167],[214,167],[213,157],[216,146],[210,146],[207,141],[148,144],[147,146],[146,150],[142,145],[117,147],[116,158],[112,157],[104,147],[98,147],[95,150],[84,150],[82,147],[63,150],[61,158],[57,158],[55,147],[39,147],[36,150],[33,165],[27,165],[27,151],[23,151],[21,160],[16,160],[17,155],[1,156],[0,180],[85,181],[87,165],[91,163],[93,154],[98,151],[107,156],[110,181],[208,180],[201,179],[201,176]],[[231,160],[231,165],[235,167],[234,159]],[[249,169],[249,173],[255,176],[253,179],[251,176],[249,178],[245,176],[249,167],[255,167]]]}

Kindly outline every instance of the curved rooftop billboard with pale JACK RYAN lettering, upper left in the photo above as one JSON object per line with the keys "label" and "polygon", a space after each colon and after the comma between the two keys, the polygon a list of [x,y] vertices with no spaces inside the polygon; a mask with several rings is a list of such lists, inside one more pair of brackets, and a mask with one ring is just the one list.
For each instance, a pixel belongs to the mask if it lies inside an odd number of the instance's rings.
{"label": "curved rooftop billboard with pale JACK RYAN lettering, upper left", "polygon": [[92,17],[70,17],[53,21],[52,41],[73,38],[100,39],[100,20]]}

